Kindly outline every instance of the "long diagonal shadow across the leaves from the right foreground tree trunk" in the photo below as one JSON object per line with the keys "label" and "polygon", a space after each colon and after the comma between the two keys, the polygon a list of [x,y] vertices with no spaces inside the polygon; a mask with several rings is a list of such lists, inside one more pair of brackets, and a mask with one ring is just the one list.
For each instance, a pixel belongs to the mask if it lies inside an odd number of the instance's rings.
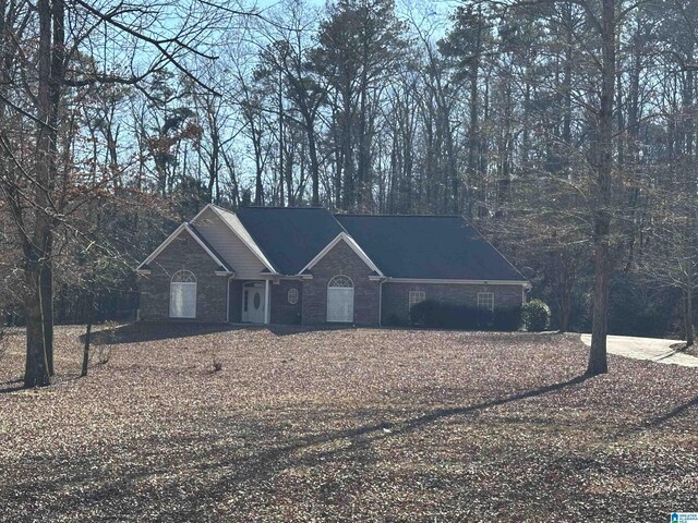
{"label": "long diagonal shadow across the leaves from the right foreground tree trunk", "polygon": [[[174,440],[168,438],[168,446],[191,449],[188,452],[182,452],[181,458],[174,461],[168,458],[167,463],[160,463],[159,466],[133,462],[129,465],[131,470],[119,471],[119,474],[111,481],[105,481],[101,472],[93,472],[101,470],[96,465],[99,460],[104,459],[103,457],[92,454],[71,457],[68,474],[65,474],[65,470],[62,470],[60,478],[29,478],[26,483],[15,487],[17,489],[14,492],[16,496],[12,499],[14,502],[32,502],[37,496],[35,492],[41,492],[45,500],[51,500],[56,499],[51,494],[64,490],[67,483],[82,484],[85,488],[81,487],[80,497],[71,499],[64,497],[61,501],[45,502],[41,509],[48,511],[46,515],[72,516],[76,515],[74,511],[80,510],[81,506],[104,506],[108,500],[110,510],[118,508],[122,516],[131,519],[139,516],[137,512],[147,508],[147,502],[141,504],[132,502],[134,498],[137,496],[147,497],[153,494],[143,490],[142,486],[136,488],[137,485],[143,485],[143,482],[149,477],[161,476],[167,470],[189,470],[190,474],[186,479],[183,479],[191,482],[186,489],[182,488],[181,482],[157,487],[158,499],[166,502],[172,500],[172,506],[158,506],[158,518],[163,521],[203,521],[201,511],[205,506],[202,502],[218,503],[231,489],[239,490],[255,485],[268,486],[269,482],[274,482],[274,478],[284,471],[293,467],[325,466],[337,460],[350,460],[352,467],[368,467],[378,460],[372,450],[374,442],[407,436],[430,424],[453,416],[474,415],[488,409],[556,392],[567,387],[580,385],[588,378],[588,376],[581,375],[565,381],[471,405],[435,409],[417,416],[408,415],[404,419],[392,423],[381,421],[385,413],[375,411],[371,415],[373,417],[371,423],[345,429],[326,430],[322,434],[291,436],[290,439],[281,433],[275,433],[273,427],[260,423],[260,421],[244,423],[242,419],[229,415],[217,418],[219,430],[213,433],[217,436],[213,436],[212,427],[208,427],[209,431],[206,436],[191,434],[179,436]],[[234,449],[228,448],[229,443],[220,445],[226,441],[221,435],[229,434],[230,427],[237,427],[237,431],[243,430],[245,441],[254,440],[262,443],[274,441],[274,443],[272,447],[260,445],[258,450],[241,454]],[[333,446],[333,443],[345,439],[351,441],[351,445],[339,448]],[[314,447],[318,448],[314,449]],[[157,452],[156,449],[153,451]],[[164,470],[163,466],[167,470]],[[196,477],[191,476],[192,474]],[[198,482],[197,478],[201,477],[205,477],[206,481]]]}

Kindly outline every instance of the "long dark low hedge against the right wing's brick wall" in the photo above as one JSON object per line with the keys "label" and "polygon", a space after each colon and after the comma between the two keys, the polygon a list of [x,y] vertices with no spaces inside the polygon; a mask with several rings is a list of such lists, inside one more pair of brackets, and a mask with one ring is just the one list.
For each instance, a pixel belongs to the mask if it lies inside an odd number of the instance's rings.
{"label": "long dark low hedge against the right wing's brick wall", "polygon": [[410,323],[447,329],[517,330],[521,325],[521,309],[485,311],[426,300],[410,309]]}

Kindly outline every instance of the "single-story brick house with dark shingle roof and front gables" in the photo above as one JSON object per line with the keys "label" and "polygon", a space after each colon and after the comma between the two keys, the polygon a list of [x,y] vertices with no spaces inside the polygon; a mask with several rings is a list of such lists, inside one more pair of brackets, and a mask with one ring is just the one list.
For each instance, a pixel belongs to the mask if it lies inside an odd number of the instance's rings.
{"label": "single-story brick house with dark shingle roof and front gables", "polygon": [[136,269],[142,320],[407,323],[435,300],[489,309],[529,282],[461,217],[207,205]]}

